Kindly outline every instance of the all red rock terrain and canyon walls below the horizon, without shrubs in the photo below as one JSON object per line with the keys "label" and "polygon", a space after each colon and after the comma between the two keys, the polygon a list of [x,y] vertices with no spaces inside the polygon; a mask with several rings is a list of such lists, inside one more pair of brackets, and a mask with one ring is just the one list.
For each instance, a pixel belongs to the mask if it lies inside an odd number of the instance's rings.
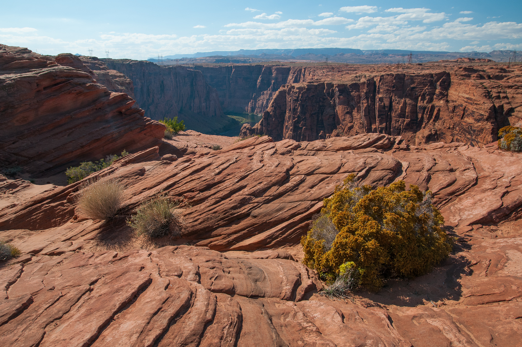
{"label": "all red rock terrain and canyon walls below the horizon, without shrubs", "polygon": [[[0,175],[0,235],[21,251],[0,263],[4,343],[516,345],[522,154],[495,140],[520,124],[521,78],[489,63],[187,69],[0,46],[0,159],[43,180]],[[148,109],[208,119],[209,133],[227,112],[263,119],[241,141],[168,140]],[[124,148],[84,180],[45,183]],[[321,295],[299,242],[350,173],[431,190],[451,255],[379,292]],[[98,179],[125,186],[108,222],[78,204]],[[128,217],[159,194],[180,203],[179,237],[136,236]]]}

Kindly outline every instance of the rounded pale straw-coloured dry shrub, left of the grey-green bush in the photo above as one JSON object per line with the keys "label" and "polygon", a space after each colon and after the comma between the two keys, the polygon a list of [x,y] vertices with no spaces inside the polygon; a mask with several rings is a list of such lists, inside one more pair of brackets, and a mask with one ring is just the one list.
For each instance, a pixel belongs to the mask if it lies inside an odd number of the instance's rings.
{"label": "rounded pale straw-coloured dry shrub, left of the grey-green bush", "polygon": [[108,221],[120,210],[125,187],[123,183],[112,179],[100,179],[89,183],[79,192],[80,210],[92,219]]}

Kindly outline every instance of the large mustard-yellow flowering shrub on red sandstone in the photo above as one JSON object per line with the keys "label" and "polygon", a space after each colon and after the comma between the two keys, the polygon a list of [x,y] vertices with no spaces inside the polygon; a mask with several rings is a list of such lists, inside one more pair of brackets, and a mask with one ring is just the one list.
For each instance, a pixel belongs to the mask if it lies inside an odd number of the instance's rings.
{"label": "large mustard-yellow flowering shrub on red sandstone", "polygon": [[[417,186],[407,191],[404,181],[359,188],[352,174],[324,199],[321,215],[301,239],[303,262],[330,278],[346,277],[348,267],[352,285],[378,288],[388,277],[424,274],[452,248],[432,193]],[[331,245],[330,223],[339,230]]]}

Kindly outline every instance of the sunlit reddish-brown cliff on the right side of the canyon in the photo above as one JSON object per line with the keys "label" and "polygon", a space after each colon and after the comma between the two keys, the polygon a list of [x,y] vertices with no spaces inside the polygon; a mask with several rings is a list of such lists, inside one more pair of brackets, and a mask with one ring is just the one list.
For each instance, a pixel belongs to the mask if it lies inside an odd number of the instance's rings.
{"label": "sunlit reddish-brown cliff on the right side of the canyon", "polygon": [[307,70],[289,79],[341,82],[281,86],[251,132],[296,141],[378,132],[400,135],[413,145],[483,146],[497,140],[500,128],[520,124],[522,118],[520,67],[416,67],[408,73],[389,68],[390,73],[352,76]]}

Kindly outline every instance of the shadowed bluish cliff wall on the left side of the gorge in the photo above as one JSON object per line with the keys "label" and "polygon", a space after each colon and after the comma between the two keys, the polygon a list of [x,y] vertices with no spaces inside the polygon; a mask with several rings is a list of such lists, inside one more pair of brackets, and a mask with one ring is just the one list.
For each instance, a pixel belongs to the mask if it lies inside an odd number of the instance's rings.
{"label": "shadowed bluish cliff wall on the left side of the gorge", "polygon": [[216,90],[199,71],[146,61],[100,61],[132,80],[138,105],[152,119],[178,117],[188,129],[204,133],[219,133],[235,124],[223,114]]}

